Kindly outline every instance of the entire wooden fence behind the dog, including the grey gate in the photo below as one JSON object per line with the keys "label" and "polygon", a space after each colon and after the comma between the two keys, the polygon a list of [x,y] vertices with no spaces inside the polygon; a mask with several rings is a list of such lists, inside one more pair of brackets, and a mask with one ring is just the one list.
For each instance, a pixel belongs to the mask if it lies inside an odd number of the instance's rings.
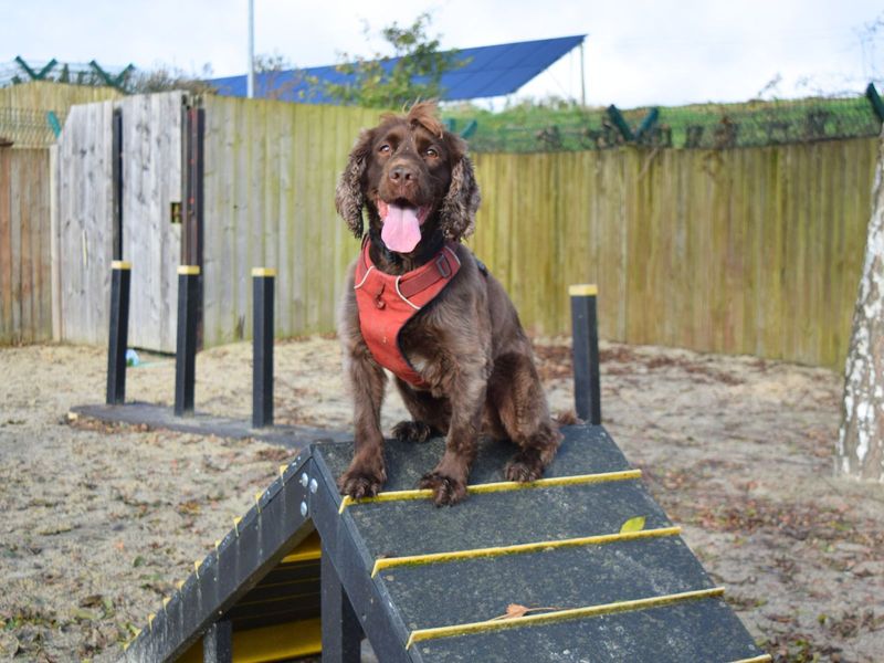
{"label": "entire wooden fence behind the dog, including the grey gate", "polygon": [[[129,97],[80,106],[69,119],[54,206],[61,274],[52,311],[60,312],[62,338],[103,343],[106,334],[113,235],[107,160],[110,117],[119,107],[128,127],[123,257],[134,264],[133,316],[144,307],[161,313],[151,314],[159,332],[147,333],[152,327],[139,323],[130,338],[169,349],[181,249],[169,211],[181,197],[181,103],[171,93]],[[346,266],[358,249],[335,213],[335,182],[359,129],[373,125],[377,112],[212,96],[202,105],[204,345],[251,336],[253,266],[277,270],[277,337],[333,330]],[[594,282],[606,338],[840,369],[876,145],[854,139],[708,151],[478,154],[483,206],[470,244],[534,333],[567,334],[567,286]],[[3,172],[11,178],[6,159]],[[34,170],[28,179],[27,186],[0,188],[0,209],[31,201],[28,232],[38,239],[29,255],[36,245],[45,255],[49,214],[40,201],[49,193],[25,191],[48,187],[49,175]],[[34,221],[41,217],[45,225]],[[28,314],[27,329],[22,314],[12,323],[7,284],[13,272],[22,273],[24,254],[11,238],[22,230],[10,212],[2,219],[0,338],[45,338],[44,272],[28,291],[41,303],[30,308],[39,315]],[[162,238],[151,240],[151,233]],[[139,271],[148,280],[144,292],[135,287]]]}

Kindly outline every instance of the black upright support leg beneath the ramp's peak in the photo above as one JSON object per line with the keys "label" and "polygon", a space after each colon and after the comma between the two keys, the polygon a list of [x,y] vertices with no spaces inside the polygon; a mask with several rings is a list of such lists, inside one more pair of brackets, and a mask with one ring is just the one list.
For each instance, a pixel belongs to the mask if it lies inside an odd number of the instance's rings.
{"label": "black upright support leg beneath the ramp's peak", "polygon": [[359,663],[362,640],[359,620],[326,550],[320,565],[323,663]]}

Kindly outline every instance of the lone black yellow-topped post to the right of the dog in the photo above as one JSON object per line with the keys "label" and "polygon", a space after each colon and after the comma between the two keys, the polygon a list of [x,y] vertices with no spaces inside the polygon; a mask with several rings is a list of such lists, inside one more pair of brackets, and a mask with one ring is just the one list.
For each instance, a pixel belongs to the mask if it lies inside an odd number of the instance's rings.
{"label": "lone black yellow-topped post to the right of the dog", "polygon": [[573,341],[573,404],[577,415],[593,425],[601,424],[598,292],[594,285],[572,285],[568,288]]}

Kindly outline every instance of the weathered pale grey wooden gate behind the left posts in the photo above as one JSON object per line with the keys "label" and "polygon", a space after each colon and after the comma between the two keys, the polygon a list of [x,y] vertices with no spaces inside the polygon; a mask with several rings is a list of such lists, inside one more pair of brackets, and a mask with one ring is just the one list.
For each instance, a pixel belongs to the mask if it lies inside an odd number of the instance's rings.
{"label": "weathered pale grey wooden gate behind the left posts", "polygon": [[186,103],[172,92],[71,109],[56,160],[64,340],[106,343],[110,262],[125,260],[129,345],[175,351]]}

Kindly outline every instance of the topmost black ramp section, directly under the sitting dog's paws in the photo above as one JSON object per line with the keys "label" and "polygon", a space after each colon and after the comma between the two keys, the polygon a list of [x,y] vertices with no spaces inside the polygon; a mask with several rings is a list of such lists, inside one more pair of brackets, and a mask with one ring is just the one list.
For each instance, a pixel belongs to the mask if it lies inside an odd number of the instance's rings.
{"label": "topmost black ramp section, directly under the sitting dog's paws", "polygon": [[[568,427],[555,462],[547,467],[545,477],[573,476],[629,470],[630,464],[611,436],[600,425]],[[421,476],[435,467],[445,450],[445,441],[434,438],[423,443],[387,440],[387,483],[383,491],[409,491],[418,487]],[[324,444],[323,459],[328,471],[337,478],[350,464],[352,444]],[[503,470],[516,453],[511,442],[483,440],[470,473],[470,484],[504,481]]]}

